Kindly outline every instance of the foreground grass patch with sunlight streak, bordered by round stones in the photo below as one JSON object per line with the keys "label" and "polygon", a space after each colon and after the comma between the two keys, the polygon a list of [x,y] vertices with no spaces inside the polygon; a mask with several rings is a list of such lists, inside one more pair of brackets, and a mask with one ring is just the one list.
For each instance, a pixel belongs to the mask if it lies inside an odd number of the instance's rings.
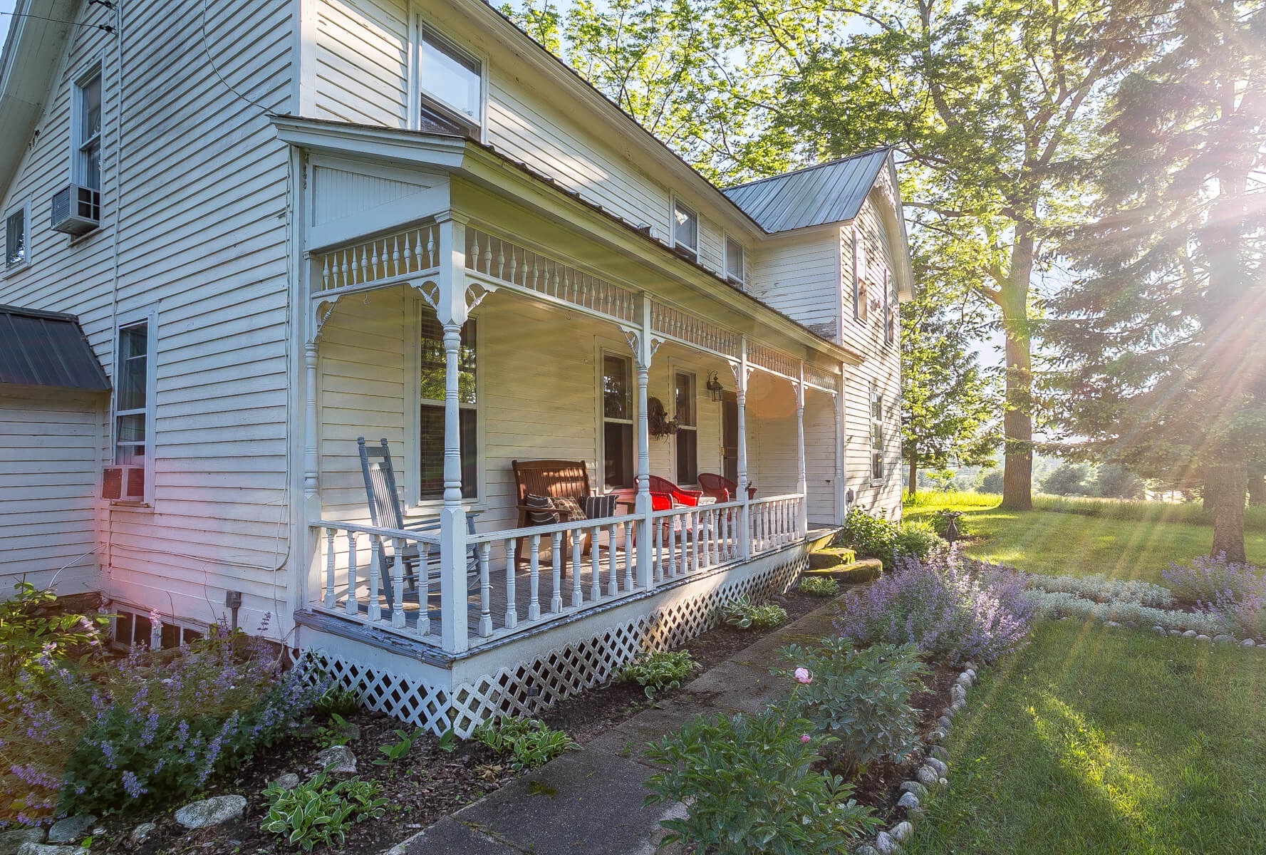
{"label": "foreground grass patch with sunlight streak, bordered by round stones", "polygon": [[1266,651],[1039,622],[981,676],[908,855],[1266,851]]}

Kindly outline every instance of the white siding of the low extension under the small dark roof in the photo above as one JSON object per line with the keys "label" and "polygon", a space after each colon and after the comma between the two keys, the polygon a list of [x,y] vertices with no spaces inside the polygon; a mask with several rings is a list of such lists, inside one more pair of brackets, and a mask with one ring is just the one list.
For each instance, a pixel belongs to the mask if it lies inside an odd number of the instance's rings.
{"label": "white siding of the low extension under the small dark roof", "polygon": [[104,405],[105,395],[60,389],[0,394],[0,599],[22,580],[47,588],[56,578],[61,594],[100,589]]}

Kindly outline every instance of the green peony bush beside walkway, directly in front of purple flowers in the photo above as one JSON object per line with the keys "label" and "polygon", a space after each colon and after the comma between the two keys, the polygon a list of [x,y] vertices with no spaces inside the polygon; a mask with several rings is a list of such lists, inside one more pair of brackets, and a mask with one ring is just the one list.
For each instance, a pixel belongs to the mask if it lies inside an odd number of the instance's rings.
{"label": "green peony bush beside walkway, directly in front of purple flowers", "polygon": [[[928,669],[914,645],[855,650],[848,638],[823,638],[817,647],[790,645],[779,654],[810,675],[786,700],[787,713],[838,740],[830,747],[846,778],[880,757],[900,760],[918,745],[919,713],[910,697]],[[795,679],[793,670],[774,673]]]}

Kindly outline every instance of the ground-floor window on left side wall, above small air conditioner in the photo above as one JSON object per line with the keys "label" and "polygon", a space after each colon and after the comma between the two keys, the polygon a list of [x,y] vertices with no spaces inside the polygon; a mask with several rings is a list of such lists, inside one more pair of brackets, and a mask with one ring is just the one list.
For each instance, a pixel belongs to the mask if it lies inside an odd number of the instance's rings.
{"label": "ground-floor window on left side wall, above small air conditioner", "polygon": [[134,467],[125,476],[128,493],[146,502],[153,495],[154,332],[152,317],[119,327],[114,374],[114,464]]}

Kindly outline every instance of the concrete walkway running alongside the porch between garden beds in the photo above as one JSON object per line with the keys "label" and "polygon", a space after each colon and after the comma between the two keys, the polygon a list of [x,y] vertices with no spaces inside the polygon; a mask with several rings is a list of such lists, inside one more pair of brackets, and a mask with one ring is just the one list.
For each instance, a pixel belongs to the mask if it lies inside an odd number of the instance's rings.
{"label": "concrete walkway running alongside the porch between garden beds", "polygon": [[565,754],[418,832],[387,855],[648,855],[666,833],[660,820],[684,816],[684,808],[643,807],[648,790],[642,782],[656,771],[642,756],[646,744],[699,713],[757,712],[790,692],[786,680],[770,674],[771,666],[785,665],[774,651],[832,635],[834,611],[832,600],[771,632],[689,683],[666,708],[634,716],[581,751]]}

